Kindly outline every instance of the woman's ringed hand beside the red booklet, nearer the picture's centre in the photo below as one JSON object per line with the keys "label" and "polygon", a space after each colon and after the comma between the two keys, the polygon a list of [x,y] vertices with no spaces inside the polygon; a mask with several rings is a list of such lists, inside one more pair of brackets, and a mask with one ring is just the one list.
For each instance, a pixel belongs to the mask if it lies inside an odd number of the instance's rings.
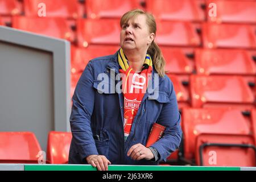
{"label": "woman's ringed hand beside the red booklet, nearer the picture's centre", "polygon": [[131,146],[131,148],[127,152],[127,156],[130,156],[130,158],[133,160],[150,160],[154,158],[154,154],[152,153],[152,151],[149,148],[143,146],[143,144],[141,143],[137,143]]}

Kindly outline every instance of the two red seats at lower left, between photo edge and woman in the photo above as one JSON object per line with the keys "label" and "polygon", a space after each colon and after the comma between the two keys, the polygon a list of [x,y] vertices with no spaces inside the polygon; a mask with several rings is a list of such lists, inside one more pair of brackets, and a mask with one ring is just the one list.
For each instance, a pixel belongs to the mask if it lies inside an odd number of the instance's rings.
{"label": "two red seats at lower left, between photo edge and woman", "polygon": [[[32,132],[0,132],[0,138],[0,163],[36,164],[46,160]],[[71,138],[72,134],[68,132],[49,132],[46,163],[67,163]]]}

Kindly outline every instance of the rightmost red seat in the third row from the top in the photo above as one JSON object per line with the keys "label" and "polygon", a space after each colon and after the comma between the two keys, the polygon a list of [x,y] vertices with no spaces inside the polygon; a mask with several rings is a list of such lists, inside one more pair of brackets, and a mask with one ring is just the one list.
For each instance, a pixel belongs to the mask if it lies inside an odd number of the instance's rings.
{"label": "rightmost red seat in the third row from the top", "polygon": [[256,74],[253,57],[242,49],[197,49],[195,61],[197,74],[201,75]]}

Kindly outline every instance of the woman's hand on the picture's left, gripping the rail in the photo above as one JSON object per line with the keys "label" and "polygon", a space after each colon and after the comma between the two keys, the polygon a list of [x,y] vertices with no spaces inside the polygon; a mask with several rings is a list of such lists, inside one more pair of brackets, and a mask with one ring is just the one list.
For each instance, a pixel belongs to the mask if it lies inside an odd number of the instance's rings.
{"label": "woman's hand on the picture's left, gripping the rail", "polygon": [[86,158],[88,164],[97,167],[98,171],[108,171],[110,161],[104,155],[89,155]]}

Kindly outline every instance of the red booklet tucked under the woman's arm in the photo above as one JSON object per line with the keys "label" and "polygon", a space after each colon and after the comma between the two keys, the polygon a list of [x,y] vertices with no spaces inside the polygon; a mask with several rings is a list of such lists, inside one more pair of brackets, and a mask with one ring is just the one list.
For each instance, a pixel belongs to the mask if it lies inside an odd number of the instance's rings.
{"label": "red booklet tucked under the woman's arm", "polygon": [[165,129],[165,126],[154,123],[150,130],[150,134],[148,135],[146,147],[150,147],[153,143],[159,140],[162,137]]}

